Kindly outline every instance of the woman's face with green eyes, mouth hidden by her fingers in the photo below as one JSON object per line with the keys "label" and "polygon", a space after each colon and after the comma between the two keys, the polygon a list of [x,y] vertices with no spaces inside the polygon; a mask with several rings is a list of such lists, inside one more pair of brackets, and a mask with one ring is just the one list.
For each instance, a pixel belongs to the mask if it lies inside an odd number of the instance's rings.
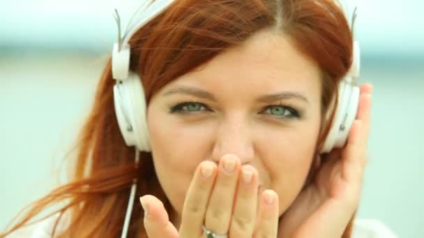
{"label": "woman's face with green eyes, mouth hidden by her fingers", "polygon": [[285,212],[315,152],[320,75],[289,38],[262,32],[153,95],[153,162],[176,212],[199,163],[218,163],[228,153],[257,169],[259,184],[278,193],[280,215]]}

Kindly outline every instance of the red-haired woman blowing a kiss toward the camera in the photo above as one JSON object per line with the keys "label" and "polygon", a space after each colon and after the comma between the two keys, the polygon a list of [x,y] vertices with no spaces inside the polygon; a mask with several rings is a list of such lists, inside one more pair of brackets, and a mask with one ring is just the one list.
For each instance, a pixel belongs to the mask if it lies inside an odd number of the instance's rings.
{"label": "red-haired woman blowing a kiss toward the camera", "polygon": [[[321,154],[354,59],[337,3],[177,0],[129,45],[151,150],[134,163],[111,60],[79,136],[75,179],[6,234],[63,203],[33,234],[119,237],[129,221],[128,237],[351,237],[372,86],[361,86],[345,147]],[[134,180],[141,203],[128,206]]]}

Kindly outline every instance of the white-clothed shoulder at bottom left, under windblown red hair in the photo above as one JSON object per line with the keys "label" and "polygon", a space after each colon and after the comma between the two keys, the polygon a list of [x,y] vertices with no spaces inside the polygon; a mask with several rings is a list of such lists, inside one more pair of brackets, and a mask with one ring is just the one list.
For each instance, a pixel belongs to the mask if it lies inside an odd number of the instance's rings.
{"label": "white-clothed shoulder at bottom left, under windblown red hair", "polygon": [[[27,238],[50,238],[52,237],[52,231],[56,220],[59,218],[59,214],[54,214],[53,216],[33,223],[31,225],[26,225],[15,232],[12,232],[7,238],[18,238],[18,237],[27,237]],[[65,224],[67,222],[67,217],[63,217],[59,224],[56,227],[56,231],[64,230]]]}

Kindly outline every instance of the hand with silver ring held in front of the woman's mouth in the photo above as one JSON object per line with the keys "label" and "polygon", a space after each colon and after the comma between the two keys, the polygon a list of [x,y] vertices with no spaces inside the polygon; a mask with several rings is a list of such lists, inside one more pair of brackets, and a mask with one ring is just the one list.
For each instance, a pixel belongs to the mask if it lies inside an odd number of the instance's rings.
{"label": "hand with silver ring held in front of the woman's mouth", "polygon": [[160,200],[151,195],[140,198],[146,214],[144,227],[150,238],[204,238],[202,225],[229,238],[277,237],[277,193],[264,191],[257,210],[257,191],[257,170],[241,166],[236,156],[224,155],[218,168],[212,161],[203,161],[185,196],[180,229],[169,221]]}

